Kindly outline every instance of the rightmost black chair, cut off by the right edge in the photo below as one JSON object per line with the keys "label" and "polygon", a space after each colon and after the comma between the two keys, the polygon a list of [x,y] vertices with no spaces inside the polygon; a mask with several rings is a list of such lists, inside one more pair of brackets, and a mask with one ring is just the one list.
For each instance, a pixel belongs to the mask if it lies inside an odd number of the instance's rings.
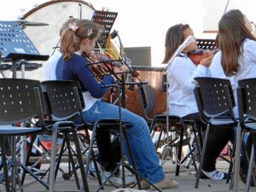
{"label": "rightmost black chair, cut off by the right edge", "polygon": [[[236,157],[234,167],[234,191],[238,190],[238,174],[240,170],[240,151],[241,151],[241,133],[249,132],[253,139],[253,148],[249,160],[249,167],[247,172],[246,191],[249,191],[252,175],[255,182],[253,173],[253,160],[255,154],[256,143],[256,79],[241,79],[238,81],[237,103],[239,112],[239,124],[236,131]],[[255,161],[254,161],[255,162]]]}

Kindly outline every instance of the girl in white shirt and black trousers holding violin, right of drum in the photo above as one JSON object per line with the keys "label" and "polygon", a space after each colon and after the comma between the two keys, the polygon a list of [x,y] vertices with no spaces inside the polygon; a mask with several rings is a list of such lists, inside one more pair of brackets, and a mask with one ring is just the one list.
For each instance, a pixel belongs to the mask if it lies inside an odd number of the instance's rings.
{"label": "girl in white shirt and black trousers holding violin, right of drum", "polygon": [[[177,24],[166,32],[166,54],[163,63],[167,63],[176,49],[189,36],[194,37],[194,32],[189,25]],[[188,53],[197,49],[196,42],[190,43],[177,55],[167,68],[167,81],[169,84],[169,113],[186,119],[195,119],[198,125],[206,129],[201,123],[195,102],[193,89],[195,88],[195,77],[206,77],[210,75],[208,67],[211,65],[213,54],[209,53],[207,58],[200,61],[196,67],[189,59]],[[221,180],[227,174],[216,169],[215,164],[218,155],[224,146],[233,137],[232,129],[211,129],[207,143],[206,158],[202,165],[201,178],[212,178]]]}

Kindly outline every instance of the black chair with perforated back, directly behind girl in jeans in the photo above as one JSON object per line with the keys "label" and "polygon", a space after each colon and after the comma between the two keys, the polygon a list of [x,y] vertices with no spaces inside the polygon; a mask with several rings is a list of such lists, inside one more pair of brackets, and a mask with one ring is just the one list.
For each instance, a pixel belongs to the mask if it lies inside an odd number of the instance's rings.
{"label": "black chair with perforated back, directly behind girl in jeans", "polygon": [[[81,114],[82,104],[79,98],[79,82],[75,81],[44,81],[42,82],[43,90],[45,94],[45,99],[48,103],[48,110],[50,118],[55,121],[53,125],[52,133],[52,147],[51,147],[51,160],[50,160],[50,172],[49,172],[49,191],[54,190],[55,177],[60,165],[61,154],[63,153],[63,144],[61,147],[61,152],[57,166],[55,167],[55,148],[57,142],[57,136],[59,133],[64,135],[64,142],[67,143],[67,150],[69,154],[69,160],[71,160],[71,165],[73,166],[73,173],[75,177],[75,182],[79,186],[79,177],[76,174],[76,166],[73,160],[73,149],[70,145],[70,135],[73,135],[73,142],[76,147],[76,158],[79,162],[80,174],[82,177],[82,183],[84,185],[83,191],[89,192],[89,186],[86,179],[84,162],[82,159],[81,149],[79,146],[79,137],[77,134],[78,126],[73,123],[71,118],[74,118],[77,114]],[[85,129],[85,128],[84,128]],[[86,129],[85,129],[86,130]],[[87,131],[87,130],[86,130]],[[86,132],[87,137],[89,137],[88,131]],[[90,140],[88,141],[90,142]],[[98,176],[99,177],[99,176]]]}

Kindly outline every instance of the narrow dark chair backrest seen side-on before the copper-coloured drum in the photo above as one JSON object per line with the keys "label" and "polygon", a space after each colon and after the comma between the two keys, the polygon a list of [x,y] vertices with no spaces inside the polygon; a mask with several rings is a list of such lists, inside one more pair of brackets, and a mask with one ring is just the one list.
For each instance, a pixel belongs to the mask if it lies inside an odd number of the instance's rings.
{"label": "narrow dark chair backrest seen side-on before the copper-coloured drum", "polygon": [[154,118],[154,109],[156,108],[156,99],[150,84],[142,84],[139,89],[140,100],[143,104],[143,113],[146,119]]}

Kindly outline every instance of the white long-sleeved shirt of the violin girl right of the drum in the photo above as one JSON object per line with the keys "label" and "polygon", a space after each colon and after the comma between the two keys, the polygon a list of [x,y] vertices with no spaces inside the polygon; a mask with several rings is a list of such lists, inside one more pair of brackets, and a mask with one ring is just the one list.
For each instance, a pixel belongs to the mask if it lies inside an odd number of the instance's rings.
{"label": "white long-sleeved shirt of the violin girl right of the drum", "polygon": [[207,67],[196,67],[187,55],[177,56],[167,68],[169,114],[183,117],[198,112],[193,93],[194,78],[210,75]]}

